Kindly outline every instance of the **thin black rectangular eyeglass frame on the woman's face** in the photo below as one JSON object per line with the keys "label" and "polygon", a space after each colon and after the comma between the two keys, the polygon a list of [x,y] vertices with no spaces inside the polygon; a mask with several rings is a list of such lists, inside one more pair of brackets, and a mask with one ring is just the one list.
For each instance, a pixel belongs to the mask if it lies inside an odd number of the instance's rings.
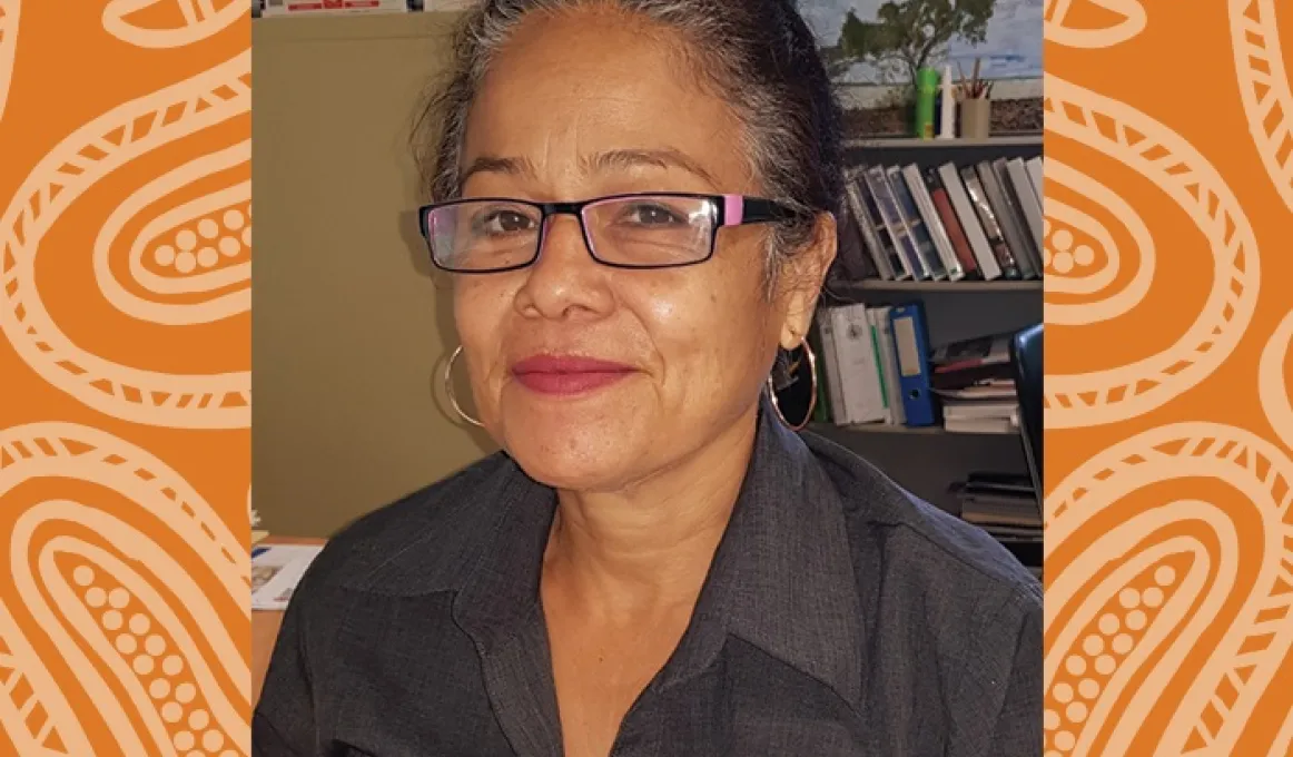
{"label": "thin black rectangular eyeglass frame on the woman's face", "polygon": [[[615,202],[615,201],[634,199],[634,198],[652,198],[652,197],[676,198],[676,199],[702,199],[710,203],[711,208],[714,210],[715,223],[714,228],[710,229],[710,246],[709,251],[706,251],[705,254],[705,258],[700,258],[697,260],[688,260],[687,263],[659,263],[650,265],[635,265],[631,263],[612,263],[608,260],[603,260],[601,258],[597,258],[596,248],[592,245],[592,236],[588,233],[588,224],[583,217],[584,208],[588,208],[595,204],[603,204],[606,202]],[[539,211],[539,238],[534,245],[534,255],[531,255],[525,263],[517,263],[515,265],[508,265],[504,268],[490,268],[485,270],[450,268],[447,265],[442,265],[438,260],[436,260],[436,250],[432,246],[431,241],[432,211],[459,204],[477,203],[477,202],[502,202],[508,204],[518,204],[518,206],[537,208]],[[795,212],[794,210],[786,207],[785,204],[775,199],[768,199],[764,197],[749,197],[743,194],[635,192],[627,194],[595,197],[579,202],[530,202],[509,197],[469,197],[469,198],[451,199],[447,202],[438,202],[422,206],[420,208],[418,208],[418,226],[419,230],[422,232],[422,238],[425,239],[427,242],[427,254],[431,256],[431,264],[434,265],[436,268],[449,273],[459,273],[459,274],[507,273],[509,270],[520,270],[522,268],[534,265],[534,263],[539,259],[539,255],[543,251],[543,239],[544,236],[547,234],[548,220],[553,216],[560,216],[560,215],[574,216],[575,219],[579,220],[579,233],[583,237],[584,248],[588,251],[588,255],[601,265],[608,265],[610,268],[622,268],[628,270],[658,270],[663,268],[685,268],[689,265],[700,265],[701,263],[705,263],[711,258],[714,258],[714,251],[718,248],[719,229],[727,226],[742,226],[747,224],[767,224],[776,221],[786,221],[800,217],[802,214]]]}

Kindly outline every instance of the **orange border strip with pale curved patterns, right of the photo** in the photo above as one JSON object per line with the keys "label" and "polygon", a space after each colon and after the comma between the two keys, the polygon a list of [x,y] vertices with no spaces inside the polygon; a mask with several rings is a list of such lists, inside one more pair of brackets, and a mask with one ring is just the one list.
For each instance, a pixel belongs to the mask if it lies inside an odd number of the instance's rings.
{"label": "orange border strip with pale curved patterns, right of the photo", "polygon": [[1279,21],[1046,4],[1046,757],[1293,753]]}

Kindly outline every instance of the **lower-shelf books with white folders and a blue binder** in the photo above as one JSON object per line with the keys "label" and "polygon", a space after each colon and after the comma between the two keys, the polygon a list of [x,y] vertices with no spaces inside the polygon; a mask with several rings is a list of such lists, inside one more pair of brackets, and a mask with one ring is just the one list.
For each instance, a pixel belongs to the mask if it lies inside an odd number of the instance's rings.
{"label": "lower-shelf books with white folders and a blue binder", "polygon": [[931,351],[917,303],[824,308],[817,318],[818,422],[1019,431],[1011,334]]}

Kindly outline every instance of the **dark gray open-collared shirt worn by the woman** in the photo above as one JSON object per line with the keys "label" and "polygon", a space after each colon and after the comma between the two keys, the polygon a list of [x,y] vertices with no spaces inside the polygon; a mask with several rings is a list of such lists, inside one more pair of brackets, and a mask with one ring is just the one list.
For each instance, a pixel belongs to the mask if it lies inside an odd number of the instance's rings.
{"label": "dark gray open-collared shirt worn by the woman", "polygon": [[[557,757],[551,489],[495,454],[335,537],[286,613],[255,757]],[[1042,595],[981,531],[760,414],[681,642],[613,754],[1042,751]]]}

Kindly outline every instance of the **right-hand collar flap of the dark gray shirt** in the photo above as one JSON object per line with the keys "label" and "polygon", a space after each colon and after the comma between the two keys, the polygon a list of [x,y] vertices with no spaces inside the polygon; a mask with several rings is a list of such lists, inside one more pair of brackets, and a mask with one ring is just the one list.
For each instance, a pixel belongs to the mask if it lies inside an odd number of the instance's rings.
{"label": "right-hand collar flap of the dark gray shirt", "polygon": [[[861,600],[844,507],[826,472],[767,401],[745,483],[701,590],[694,634],[666,683],[703,669],[721,629],[861,699]],[[707,628],[706,628],[707,626]],[[693,629],[689,629],[689,633]]]}

